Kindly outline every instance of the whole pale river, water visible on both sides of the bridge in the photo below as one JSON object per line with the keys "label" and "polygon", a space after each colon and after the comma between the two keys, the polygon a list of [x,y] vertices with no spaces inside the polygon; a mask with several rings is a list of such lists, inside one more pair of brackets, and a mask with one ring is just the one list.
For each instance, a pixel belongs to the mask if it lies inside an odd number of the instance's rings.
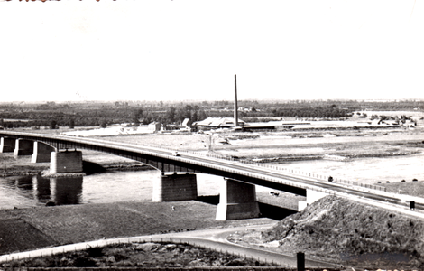
{"label": "whole pale river, water visible on both sides of the bridge", "polygon": [[[279,164],[297,171],[332,175],[355,182],[424,181],[424,154],[386,158],[359,158],[348,162],[315,160]],[[152,201],[152,183],[159,180],[156,170],[107,172],[78,178],[14,176],[0,178],[0,209],[57,205]],[[217,195],[222,177],[197,174],[198,195]],[[266,191],[257,187],[257,192]]]}

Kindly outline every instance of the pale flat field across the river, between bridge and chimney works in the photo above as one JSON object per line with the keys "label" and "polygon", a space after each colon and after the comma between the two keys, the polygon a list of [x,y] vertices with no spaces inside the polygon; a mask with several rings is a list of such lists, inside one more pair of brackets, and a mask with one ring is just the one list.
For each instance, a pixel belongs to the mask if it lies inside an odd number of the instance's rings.
{"label": "pale flat field across the river, between bridge and chimney works", "polygon": [[325,154],[345,157],[382,157],[418,154],[424,150],[421,129],[364,129],[359,131],[221,132],[206,134],[149,134],[98,137],[136,145],[158,145],[180,151],[215,153],[242,159],[322,158]]}

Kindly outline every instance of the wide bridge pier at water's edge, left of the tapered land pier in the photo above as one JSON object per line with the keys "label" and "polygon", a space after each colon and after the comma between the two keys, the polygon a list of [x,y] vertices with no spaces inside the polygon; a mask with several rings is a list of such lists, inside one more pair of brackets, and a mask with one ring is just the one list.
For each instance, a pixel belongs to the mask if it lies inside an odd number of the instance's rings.
{"label": "wide bridge pier at water's edge, left of the tapered land pier", "polygon": [[161,175],[153,182],[152,201],[191,201],[198,198],[196,174]]}

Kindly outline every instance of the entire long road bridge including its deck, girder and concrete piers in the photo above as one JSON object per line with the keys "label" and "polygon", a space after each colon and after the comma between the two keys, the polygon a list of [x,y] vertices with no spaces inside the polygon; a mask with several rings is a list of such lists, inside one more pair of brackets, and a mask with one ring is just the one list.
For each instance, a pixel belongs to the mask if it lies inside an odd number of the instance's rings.
{"label": "entire long road bridge including its deck, girder and concrete piers", "polygon": [[161,171],[160,180],[153,182],[153,201],[195,200],[198,196],[195,173],[222,176],[217,220],[258,217],[260,210],[255,185],[306,196],[307,201],[300,202],[300,210],[328,194],[407,205],[404,197],[384,192],[382,187],[328,182],[328,176],[300,174],[270,165],[244,164],[215,155],[180,152],[177,156],[172,150],[156,146],[68,135],[0,131],[0,139],[0,153],[32,155],[32,163],[50,162],[53,175],[82,172],[82,152],[78,149],[115,154],[149,164]]}

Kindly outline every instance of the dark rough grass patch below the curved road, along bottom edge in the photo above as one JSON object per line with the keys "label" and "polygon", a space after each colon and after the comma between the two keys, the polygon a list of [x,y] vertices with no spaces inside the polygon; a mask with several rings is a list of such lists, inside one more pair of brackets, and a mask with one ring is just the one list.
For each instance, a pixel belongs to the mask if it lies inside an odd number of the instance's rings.
{"label": "dark rough grass patch below the curved road, along bottom edge", "polygon": [[272,266],[188,244],[131,243],[51,257],[15,260],[5,267],[194,267]]}

